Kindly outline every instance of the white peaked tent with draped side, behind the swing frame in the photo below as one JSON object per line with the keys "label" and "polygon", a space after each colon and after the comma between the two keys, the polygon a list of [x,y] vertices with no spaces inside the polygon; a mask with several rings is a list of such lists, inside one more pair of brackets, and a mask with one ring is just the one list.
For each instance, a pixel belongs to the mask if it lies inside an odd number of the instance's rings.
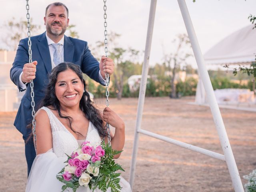
{"label": "white peaked tent with draped side, behind the swing frame", "polygon": [[[255,60],[256,54],[256,29],[252,25],[246,26],[210,48],[204,54],[207,65],[220,64],[250,64]],[[202,81],[199,78],[196,88],[197,104],[205,104],[206,96]]]}

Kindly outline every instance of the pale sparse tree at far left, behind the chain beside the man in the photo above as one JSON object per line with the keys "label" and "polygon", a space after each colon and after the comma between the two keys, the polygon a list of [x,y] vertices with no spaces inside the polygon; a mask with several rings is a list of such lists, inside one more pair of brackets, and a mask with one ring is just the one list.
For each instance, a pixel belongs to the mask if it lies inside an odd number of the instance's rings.
{"label": "pale sparse tree at far left, behind the chain beside the man", "polygon": [[[41,30],[40,25],[32,24],[33,20],[30,19],[30,31],[31,35],[38,34]],[[27,37],[27,20],[15,21],[13,17],[2,26],[6,29],[6,35],[2,37],[2,42],[6,45],[6,50],[16,50],[21,39]]]}

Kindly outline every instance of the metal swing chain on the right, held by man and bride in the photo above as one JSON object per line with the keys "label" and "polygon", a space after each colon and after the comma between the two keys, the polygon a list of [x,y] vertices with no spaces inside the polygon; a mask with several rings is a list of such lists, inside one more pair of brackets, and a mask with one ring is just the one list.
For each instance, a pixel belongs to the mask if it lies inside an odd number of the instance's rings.
{"label": "metal swing chain on the right, held by man and bride", "polygon": [[[108,44],[108,39],[107,39],[108,32],[107,32],[107,21],[106,21],[106,19],[107,19],[106,1],[107,0],[103,0],[103,2],[104,2],[104,6],[103,6],[103,10],[104,10],[104,27],[105,27],[105,30],[104,30],[104,35],[105,35],[104,44],[105,44],[105,54],[106,54],[106,57],[108,57],[108,47],[107,47],[107,44]],[[109,106],[109,100],[108,100],[108,96],[109,96],[109,91],[108,91],[108,87],[109,87],[109,74],[108,73],[105,74],[105,78],[106,78],[106,106],[108,107]],[[108,144],[111,145],[110,127],[109,127],[108,123],[106,123],[105,130],[107,130],[107,132],[108,132]]]}

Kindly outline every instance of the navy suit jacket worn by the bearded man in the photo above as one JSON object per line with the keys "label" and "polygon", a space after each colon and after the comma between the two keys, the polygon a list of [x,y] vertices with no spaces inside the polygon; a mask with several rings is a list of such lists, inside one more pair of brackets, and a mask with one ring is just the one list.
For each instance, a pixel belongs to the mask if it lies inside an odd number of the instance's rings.
{"label": "navy suit jacket worn by the bearded man", "polygon": [[[45,32],[38,36],[31,37],[32,43],[32,61],[37,61],[36,66],[36,78],[34,82],[34,101],[36,106],[44,98],[44,91],[48,84],[48,75],[52,71],[52,64],[50,58],[49,46],[46,40]],[[64,37],[64,60],[66,62],[72,62],[80,66],[82,72],[87,74],[90,78],[100,83],[99,80],[99,63],[92,56],[88,44],[85,41],[78,40],[71,37]],[[10,78],[18,89],[22,91],[19,86],[19,76],[22,72],[24,64],[29,62],[28,55],[28,38],[20,40],[17,53],[10,70]],[[26,128],[32,119],[32,107],[30,96],[30,83],[27,84],[26,93],[22,97],[14,126],[23,134],[23,138],[26,139],[31,130]],[[36,107],[37,108],[37,107]]]}

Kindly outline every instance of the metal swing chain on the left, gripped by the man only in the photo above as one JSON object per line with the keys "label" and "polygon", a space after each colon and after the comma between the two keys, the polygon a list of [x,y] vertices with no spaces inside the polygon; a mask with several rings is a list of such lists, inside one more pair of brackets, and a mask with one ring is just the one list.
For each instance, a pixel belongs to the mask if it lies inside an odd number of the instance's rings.
{"label": "metal swing chain on the left, gripped by the man only", "polygon": [[[30,22],[29,22],[29,19],[30,19],[30,14],[29,14],[29,4],[28,4],[28,0],[26,0],[27,4],[26,4],[26,10],[27,10],[27,14],[26,14],[26,17],[28,19],[28,22],[27,22],[27,28],[28,28],[28,32],[27,32],[27,35],[28,35],[28,55],[29,55],[29,63],[32,63],[32,50],[31,50],[31,40],[30,40]],[[31,92],[30,92],[30,96],[31,96],[31,106],[32,106],[32,117],[33,117],[33,120],[32,120],[32,134],[34,135],[34,146],[35,146],[35,150],[36,150],[36,120],[35,120],[35,102],[34,102],[34,82],[33,80],[30,81],[30,88],[31,88]]]}

